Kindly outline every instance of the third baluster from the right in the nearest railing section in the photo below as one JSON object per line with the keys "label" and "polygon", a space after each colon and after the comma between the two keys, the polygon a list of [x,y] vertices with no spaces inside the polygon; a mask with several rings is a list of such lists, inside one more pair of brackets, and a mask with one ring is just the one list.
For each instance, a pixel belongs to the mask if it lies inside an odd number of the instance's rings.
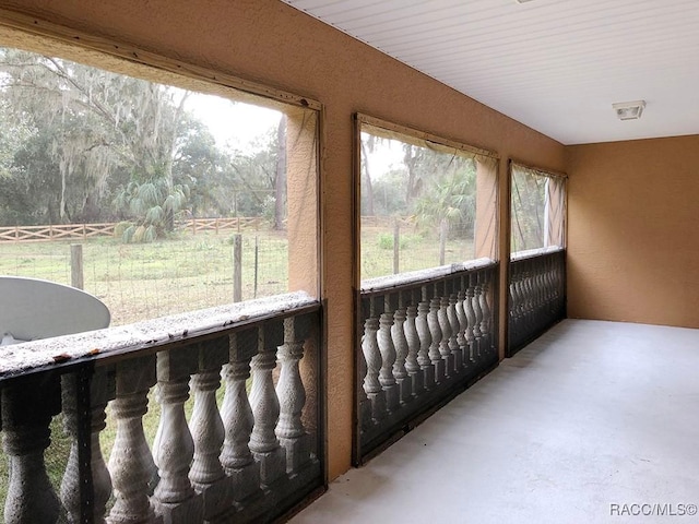
{"label": "third baluster from the right in the nearest railing section", "polygon": [[254,425],[246,382],[250,378],[250,360],[258,350],[257,329],[229,336],[229,362],[221,372],[226,393],[221,407],[225,430],[221,463],[232,479],[233,498],[245,505],[261,495],[260,466],[250,452],[249,441]]}

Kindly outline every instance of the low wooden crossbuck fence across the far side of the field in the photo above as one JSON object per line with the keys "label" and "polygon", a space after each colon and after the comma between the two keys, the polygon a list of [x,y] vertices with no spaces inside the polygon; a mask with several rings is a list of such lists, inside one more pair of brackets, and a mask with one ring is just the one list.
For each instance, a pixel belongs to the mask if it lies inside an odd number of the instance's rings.
{"label": "low wooden crossbuck fence across the far side of the field", "polygon": [[[258,216],[239,216],[233,218],[190,218],[176,221],[175,227],[193,235],[204,231],[218,233],[260,228],[264,219]],[[59,224],[48,226],[2,226],[0,242],[39,242],[51,240],[70,240],[90,237],[114,237],[117,223],[111,224]]]}

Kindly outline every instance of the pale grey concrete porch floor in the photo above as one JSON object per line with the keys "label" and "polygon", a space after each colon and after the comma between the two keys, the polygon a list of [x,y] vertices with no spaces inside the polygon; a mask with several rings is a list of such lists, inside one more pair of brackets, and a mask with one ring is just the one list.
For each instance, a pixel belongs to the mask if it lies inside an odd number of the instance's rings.
{"label": "pale grey concrete porch floor", "polygon": [[699,330],[566,320],[291,522],[699,522],[698,376]]}

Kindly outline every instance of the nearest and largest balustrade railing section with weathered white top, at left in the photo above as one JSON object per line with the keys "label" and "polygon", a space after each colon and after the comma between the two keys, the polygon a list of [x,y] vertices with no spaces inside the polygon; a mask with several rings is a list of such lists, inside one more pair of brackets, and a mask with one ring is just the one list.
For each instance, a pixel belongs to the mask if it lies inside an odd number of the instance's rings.
{"label": "nearest and largest balustrade railing section with weathered white top, at left", "polygon": [[[4,522],[279,516],[324,483],[320,340],[319,303],[296,293],[2,347]],[[143,420],[154,384],[161,413],[150,446]],[[60,412],[71,445],[59,488],[45,450]],[[105,463],[107,417],[116,437]]]}

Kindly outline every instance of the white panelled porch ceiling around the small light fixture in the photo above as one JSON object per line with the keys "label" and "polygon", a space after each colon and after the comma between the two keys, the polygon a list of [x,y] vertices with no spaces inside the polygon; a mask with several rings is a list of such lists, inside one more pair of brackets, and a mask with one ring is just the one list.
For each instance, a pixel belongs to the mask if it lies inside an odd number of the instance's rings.
{"label": "white panelled porch ceiling around the small light fixture", "polygon": [[699,133],[699,0],[283,1],[564,144]]}

